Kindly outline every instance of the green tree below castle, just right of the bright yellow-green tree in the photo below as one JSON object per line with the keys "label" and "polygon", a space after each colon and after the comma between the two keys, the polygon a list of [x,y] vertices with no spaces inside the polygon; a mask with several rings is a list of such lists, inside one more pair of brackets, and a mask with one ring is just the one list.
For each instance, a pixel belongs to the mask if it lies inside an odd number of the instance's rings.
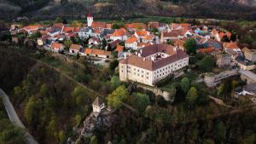
{"label": "green tree below castle, just right of the bright yellow-green tree", "polygon": [[141,93],[136,93],[135,98],[131,101],[133,107],[136,107],[139,112],[144,112],[150,104],[149,96]]}

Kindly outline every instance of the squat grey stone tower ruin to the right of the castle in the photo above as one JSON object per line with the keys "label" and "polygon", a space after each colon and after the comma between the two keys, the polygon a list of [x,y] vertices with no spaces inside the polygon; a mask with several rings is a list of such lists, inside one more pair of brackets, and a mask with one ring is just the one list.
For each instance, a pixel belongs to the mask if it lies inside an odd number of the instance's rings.
{"label": "squat grey stone tower ruin to the right of the castle", "polygon": [[217,55],[215,55],[216,58],[216,65],[218,67],[230,67],[231,65],[231,55],[228,55],[225,52],[220,52]]}

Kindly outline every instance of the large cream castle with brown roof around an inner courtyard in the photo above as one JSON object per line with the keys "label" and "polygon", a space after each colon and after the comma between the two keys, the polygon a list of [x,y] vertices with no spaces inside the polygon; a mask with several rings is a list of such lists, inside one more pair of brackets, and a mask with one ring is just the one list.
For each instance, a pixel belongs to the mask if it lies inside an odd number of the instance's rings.
{"label": "large cream castle with brown roof around an inner courtyard", "polygon": [[154,86],[173,72],[189,65],[189,55],[168,44],[154,44],[119,61],[121,81],[134,81]]}

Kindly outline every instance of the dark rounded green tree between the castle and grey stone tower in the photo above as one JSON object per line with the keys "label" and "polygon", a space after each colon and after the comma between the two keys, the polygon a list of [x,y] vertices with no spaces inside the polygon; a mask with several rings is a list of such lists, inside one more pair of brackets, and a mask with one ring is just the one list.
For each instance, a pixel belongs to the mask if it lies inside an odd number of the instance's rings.
{"label": "dark rounded green tree between the castle and grey stone tower", "polygon": [[207,55],[201,61],[199,61],[198,66],[203,72],[211,72],[212,68],[215,66],[215,60],[211,55]]}

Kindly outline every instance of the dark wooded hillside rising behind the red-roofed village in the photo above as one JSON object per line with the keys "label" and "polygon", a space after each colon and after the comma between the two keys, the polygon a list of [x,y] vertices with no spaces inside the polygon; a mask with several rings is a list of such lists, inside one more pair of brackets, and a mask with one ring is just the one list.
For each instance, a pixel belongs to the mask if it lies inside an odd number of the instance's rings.
{"label": "dark wooded hillside rising behind the red-roofed village", "polygon": [[256,20],[256,0],[0,0],[0,18],[26,15],[37,20],[147,15]]}

